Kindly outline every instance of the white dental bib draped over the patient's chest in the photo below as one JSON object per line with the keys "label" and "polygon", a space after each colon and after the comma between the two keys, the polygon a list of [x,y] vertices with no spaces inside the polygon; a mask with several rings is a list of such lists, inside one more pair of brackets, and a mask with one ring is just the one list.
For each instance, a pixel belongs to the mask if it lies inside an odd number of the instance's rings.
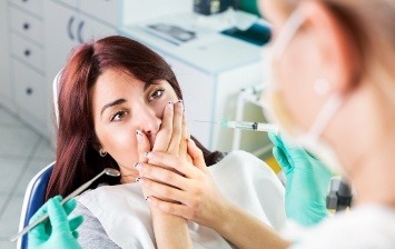
{"label": "white dental bib draped over the patient's chest", "polygon": [[[261,160],[234,151],[208,168],[224,197],[276,230],[286,222],[284,187]],[[78,198],[121,248],[156,248],[152,220],[139,183],[102,186]],[[188,223],[194,248],[235,248],[215,230]],[[238,231],[235,231],[235,233]]]}

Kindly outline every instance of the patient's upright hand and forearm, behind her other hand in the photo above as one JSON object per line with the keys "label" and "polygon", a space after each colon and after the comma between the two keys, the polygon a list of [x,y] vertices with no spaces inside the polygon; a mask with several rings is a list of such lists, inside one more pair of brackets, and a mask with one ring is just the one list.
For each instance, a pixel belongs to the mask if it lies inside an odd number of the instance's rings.
{"label": "patient's upright hand and forearm, behind her other hand", "polygon": [[[137,138],[137,140],[139,152],[141,153],[142,150],[147,148],[149,142],[145,135],[141,132],[137,133],[137,136],[140,136]],[[175,104],[169,102],[165,107],[161,128],[156,136],[152,151],[176,156],[184,161],[187,161],[188,137],[189,135],[187,131],[186,118],[184,116],[182,101],[178,101]],[[147,152],[148,150],[146,150],[144,155]],[[136,165],[136,168],[139,169],[144,162],[149,162],[149,158],[144,157],[144,159],[141,159],[139,163]],[[140,171],[140,177],[144,176],[144,172]],[[166,186],[166,183],[164,183],[164,186]],[[144,185],[142,192],[146,197],[154,193],[151,189],[146,188]],[[192,247],[187,221],[184,218],[164,212],[154,206],[150,206],[150,210],[158,248],[185,249]]]}

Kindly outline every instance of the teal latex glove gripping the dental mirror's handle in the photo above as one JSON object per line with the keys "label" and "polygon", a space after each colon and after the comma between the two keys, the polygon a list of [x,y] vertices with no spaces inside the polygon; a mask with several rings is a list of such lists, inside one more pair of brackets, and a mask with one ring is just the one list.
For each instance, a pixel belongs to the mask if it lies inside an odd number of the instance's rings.
{"label": "teal latex glove gripping the dental mirror's handle", "polygon": [[69,200],[60,205],[61,197],[49,199],[31,218],[34,221],[42,215],[49,215],[49,219],[38,225],[29,232],[29,248],[34,249],[81,249],[77,242],[77,228],[82,223],[81,216],[68,219],[68,215],[76,208],[77,201]]}

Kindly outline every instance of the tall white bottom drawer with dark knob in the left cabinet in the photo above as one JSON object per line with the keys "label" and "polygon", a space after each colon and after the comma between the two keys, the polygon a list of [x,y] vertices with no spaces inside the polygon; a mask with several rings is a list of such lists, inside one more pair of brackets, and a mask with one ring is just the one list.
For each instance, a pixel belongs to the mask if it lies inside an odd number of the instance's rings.
{"label": "tall white bottom drawer with dark knob in the left cabinet", "polygon": [[16,60],[12,60],[12,69],[16,102],[21,118],[34,127],[37,123],[45,123],[48,99],[45,96],[45,78]]}

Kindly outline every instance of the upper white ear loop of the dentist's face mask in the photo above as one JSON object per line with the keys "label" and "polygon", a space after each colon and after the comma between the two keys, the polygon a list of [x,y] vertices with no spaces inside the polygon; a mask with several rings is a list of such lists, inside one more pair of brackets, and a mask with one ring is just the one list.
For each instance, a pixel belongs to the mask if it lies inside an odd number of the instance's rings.
{"label": "upper white ear loop of the dentist's face mask", "polygon": [[273,44],[273,56],[275,59],[283,57],[287,46],[290,43],[300,26],[305,22],[305,16],[300,9],[295,10],[283,26],[283,32],[278,33]]}

